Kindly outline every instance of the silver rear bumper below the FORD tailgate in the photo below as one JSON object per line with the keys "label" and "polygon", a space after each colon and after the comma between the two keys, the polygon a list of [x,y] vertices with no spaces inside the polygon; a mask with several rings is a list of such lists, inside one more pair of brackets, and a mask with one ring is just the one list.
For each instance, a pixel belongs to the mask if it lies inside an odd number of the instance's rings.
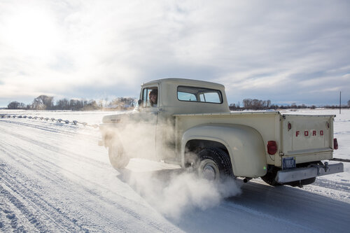
{"label": "silver rear bumper below the FORD tailgate", "polygon": [[301,181],[307,178],[314,178],[317,176],[335,174],[343,171],[344,164],[342,164],[342,162],[337,164],[326,164],[325,166],[315,165],[313,167],[278,171],[276,181],[278,183],[288,183],[293,181]]}

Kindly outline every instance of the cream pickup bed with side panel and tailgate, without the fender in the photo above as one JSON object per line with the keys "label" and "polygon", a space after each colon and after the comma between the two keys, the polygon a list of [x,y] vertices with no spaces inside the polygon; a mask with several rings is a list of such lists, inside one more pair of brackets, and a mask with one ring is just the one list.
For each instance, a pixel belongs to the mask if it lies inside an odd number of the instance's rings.
{"label": "cream pickup bed with side panel and tailgate, without the fender", "polygon": [[[278,153],[265,154],[267,164],[281,167],[283,157],[297,163],[332,159],[332,132],[335,115],[293,115],[279,111],[176,114],[176,134],[197,125],[245,125],[256,129],[264,144],[276,141]],[[288,128],[289,127],[289,128]],[[178,148],[179,149],[179,148]]]}

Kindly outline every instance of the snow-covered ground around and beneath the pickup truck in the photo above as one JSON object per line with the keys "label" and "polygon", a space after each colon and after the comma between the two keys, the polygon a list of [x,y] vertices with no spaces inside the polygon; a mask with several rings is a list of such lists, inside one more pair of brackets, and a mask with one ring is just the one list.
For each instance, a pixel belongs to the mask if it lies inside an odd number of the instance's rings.
{"label": "snow-covered ground around and beneath the pickup truck", "polygon": [[[335,114],[350,159],[350,111]],[[96,124],[106,112],[0,111]],[[111,167],[99,130],[0,118],[0,232],[349,232],[350,163],[304,188],[255,179],[212,185],[174,165]]]}

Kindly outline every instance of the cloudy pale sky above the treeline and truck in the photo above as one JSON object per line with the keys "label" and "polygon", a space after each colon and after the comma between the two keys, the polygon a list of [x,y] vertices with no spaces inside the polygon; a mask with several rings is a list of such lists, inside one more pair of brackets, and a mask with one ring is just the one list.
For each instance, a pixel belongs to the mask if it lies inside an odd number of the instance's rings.
{"label": "cloudy pale sky above the treeline and truck", "polygon": [[0,0],[0,107],[225,85],[229,104],[350,100],[350,1]]}

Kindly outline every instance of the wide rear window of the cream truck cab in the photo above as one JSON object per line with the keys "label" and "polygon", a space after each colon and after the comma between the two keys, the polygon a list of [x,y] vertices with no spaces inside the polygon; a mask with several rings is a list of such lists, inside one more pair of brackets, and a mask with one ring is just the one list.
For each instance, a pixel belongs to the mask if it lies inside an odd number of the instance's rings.
{"label": "wide rear window of the cream truck cab", "polygon": [[177,99],[180,101],[195,101],[214,104],[223,103],[221,91],[202,87],[179,86],[177,88]]}

